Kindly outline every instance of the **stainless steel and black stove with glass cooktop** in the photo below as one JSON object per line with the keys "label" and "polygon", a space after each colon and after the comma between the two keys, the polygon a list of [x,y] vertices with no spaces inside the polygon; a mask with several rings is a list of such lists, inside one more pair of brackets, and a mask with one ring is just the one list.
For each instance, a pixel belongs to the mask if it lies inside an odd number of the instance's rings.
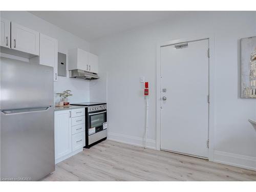
{"label": "stainless steel and black stove with glass cooktop", "polygon": [[103,141],[107,136],[106,103],[84,102],[72,105],[88,106],[86,108],[86,148]]}

